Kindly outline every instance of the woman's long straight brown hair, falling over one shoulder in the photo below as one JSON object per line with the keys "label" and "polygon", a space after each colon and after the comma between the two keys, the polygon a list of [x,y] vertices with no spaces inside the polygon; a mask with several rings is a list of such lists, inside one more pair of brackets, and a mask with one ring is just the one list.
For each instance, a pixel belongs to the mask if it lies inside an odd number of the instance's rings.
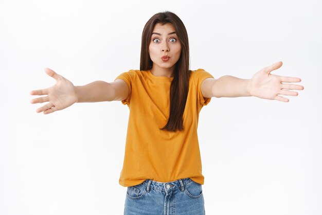
{"label": "woman's long straight brown hair, falling over one shoulder", "polygon": [[189,91],[189,77],[191,71],[189,70],[188,33],[185,25],[176,14],[169,11],[156,13],[145,25],[142,32],[140,70],[149,70],[153,66],[153,62],[149,55],[149,45],[153,28],[158,23],[161,25],[167,23],[172,24],[176,35],[181,42],[181,55],[175,64],[170,87],[169,119],[166,126],[161,130],[182,131],[184,129],[183,113]]}

